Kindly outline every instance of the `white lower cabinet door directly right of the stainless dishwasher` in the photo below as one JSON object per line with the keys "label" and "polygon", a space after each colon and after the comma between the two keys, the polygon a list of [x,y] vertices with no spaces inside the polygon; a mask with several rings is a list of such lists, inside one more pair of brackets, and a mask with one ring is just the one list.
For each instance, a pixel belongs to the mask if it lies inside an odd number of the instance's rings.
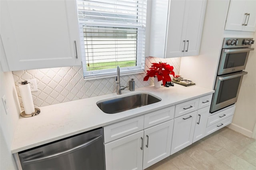
{"label": "white lower cabinet door directly right of the stainless dishwasher", "polygon": [[105,144],[106,170],[142,170],[143,130]]}

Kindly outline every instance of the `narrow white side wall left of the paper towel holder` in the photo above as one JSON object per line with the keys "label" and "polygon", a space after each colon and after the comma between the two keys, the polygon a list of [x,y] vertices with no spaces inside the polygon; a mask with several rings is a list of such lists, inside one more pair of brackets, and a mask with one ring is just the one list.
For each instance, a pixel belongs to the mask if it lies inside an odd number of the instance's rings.
{"label": "narrow white side wall left of the paper towel holder", "polygon": [[[1,40],[1,39],[0,39]],[[1,50],[0,55],[4,55]],[[0,62],[0,169],[15,170],[16,164],[11,154],[11,145],[19,119],[20,107],[12,72],[3,72]],[[4,110],[2,97],[5,95],[8,104],[8,113]]]}

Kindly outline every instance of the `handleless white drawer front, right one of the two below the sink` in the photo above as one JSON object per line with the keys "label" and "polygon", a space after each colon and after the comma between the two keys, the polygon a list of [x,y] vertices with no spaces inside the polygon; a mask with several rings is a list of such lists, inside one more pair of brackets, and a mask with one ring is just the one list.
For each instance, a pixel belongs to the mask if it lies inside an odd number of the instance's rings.
{"label": "handleless white drawer front, right one of the two below the sink", "polygon": [[152,127],[174,118],[174,106],[144,115],[144,128]]}

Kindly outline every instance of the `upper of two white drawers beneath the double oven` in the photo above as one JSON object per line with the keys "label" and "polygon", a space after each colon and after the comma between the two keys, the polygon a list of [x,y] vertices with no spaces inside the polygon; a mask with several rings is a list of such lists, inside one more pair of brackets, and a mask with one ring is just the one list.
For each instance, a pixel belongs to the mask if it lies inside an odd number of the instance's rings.
{"label": "upper of two white drawers beneath the double oven", "polygon": [[211,115],[208,117],[207,127],[210,125],[213,125],[214,123],[217,123],[231,115],[234,115],[234,111],[235,111],[235,105],[232,105],[231,107],[228,107],[224,110],[214,113],[214,115]]}

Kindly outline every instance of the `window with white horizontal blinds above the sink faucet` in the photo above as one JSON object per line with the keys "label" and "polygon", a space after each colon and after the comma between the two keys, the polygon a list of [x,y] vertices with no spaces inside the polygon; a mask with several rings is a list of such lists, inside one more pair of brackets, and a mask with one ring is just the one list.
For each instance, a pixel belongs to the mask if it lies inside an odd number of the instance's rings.
{"label": "window with white horizontal blinds above the sink faucet", "polygon": [[85,79],[144,71],[146,0],[77,0]]}

